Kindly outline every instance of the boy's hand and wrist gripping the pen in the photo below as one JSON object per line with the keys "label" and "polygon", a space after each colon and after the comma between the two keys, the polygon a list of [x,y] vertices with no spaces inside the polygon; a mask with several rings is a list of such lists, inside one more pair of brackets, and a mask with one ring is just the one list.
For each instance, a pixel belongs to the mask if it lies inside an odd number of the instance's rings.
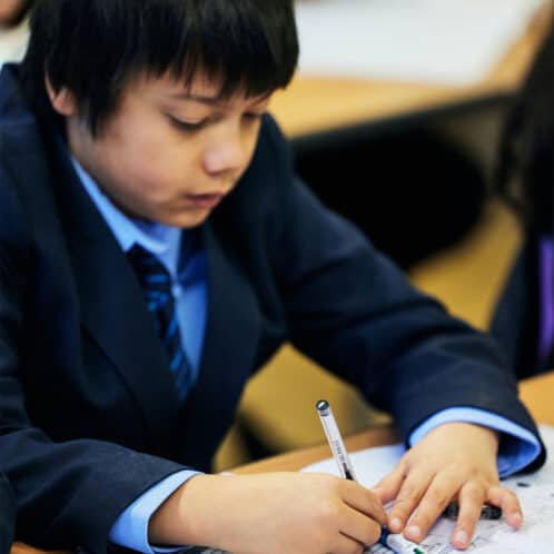
{"label": "boy's hand and wrist gripping the pen", "polygon": [[149,540],[237,554],[352,554],[378,541],[386,520],[375,494],[330,475],[198,475],[156,512]]}

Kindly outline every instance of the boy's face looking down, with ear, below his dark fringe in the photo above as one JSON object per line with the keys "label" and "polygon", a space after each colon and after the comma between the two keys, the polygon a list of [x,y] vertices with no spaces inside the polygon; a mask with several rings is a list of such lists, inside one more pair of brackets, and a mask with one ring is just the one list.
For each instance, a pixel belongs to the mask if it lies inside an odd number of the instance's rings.
{"label": "boy's face looking down, with ear, below his dark fringe", "polygon": [[72,155],[123,212],[188,228],[246,170],[270,98],[221,100],[218,91],[201,76],[187,90],[169,77],[133,80],[96,137],[70,93],[51,98],[66,117]]}

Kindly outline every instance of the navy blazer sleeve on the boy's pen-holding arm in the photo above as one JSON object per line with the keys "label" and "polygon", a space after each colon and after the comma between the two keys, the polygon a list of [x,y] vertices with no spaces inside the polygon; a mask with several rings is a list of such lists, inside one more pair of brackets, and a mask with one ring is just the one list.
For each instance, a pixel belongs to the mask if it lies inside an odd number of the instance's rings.
{"label": "navy blazer sleeve on the boy's pen-holding arm", "polygon": [[55,443],[30,421],[18,345],[32,258],[20,206],[0,167],[0,467],[17,491],[18,538],[103,553],[119,514],[182,466],[100,441]]}

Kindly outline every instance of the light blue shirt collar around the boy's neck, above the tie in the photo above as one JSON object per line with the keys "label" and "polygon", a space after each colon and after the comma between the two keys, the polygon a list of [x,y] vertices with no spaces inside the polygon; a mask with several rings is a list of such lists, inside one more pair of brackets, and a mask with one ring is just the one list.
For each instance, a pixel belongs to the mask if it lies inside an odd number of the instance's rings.
{"label": "light blue shirt collar around the boy's neck, above the tie", "polygon": [[177,275],[182,229],[127,217],[103,192],[98,184],[71,156],[75,170],[90,199],[108,224],[125,253],[139,245],[154,254],[171,275]]}

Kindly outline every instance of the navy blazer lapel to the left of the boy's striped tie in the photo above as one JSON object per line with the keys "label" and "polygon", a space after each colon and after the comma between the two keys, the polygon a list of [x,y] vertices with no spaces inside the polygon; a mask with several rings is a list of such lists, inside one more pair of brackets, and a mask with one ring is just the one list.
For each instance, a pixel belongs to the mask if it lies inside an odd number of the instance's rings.
{"label": "navy blazer lapel to the left of the boy's striped tie", "polygon": [[[66,158],[66,157],[63,157]],[[128,385],[156,453],[175,451],[178,399],[138,279],[70,161],[57,176],[81,323]]]}

